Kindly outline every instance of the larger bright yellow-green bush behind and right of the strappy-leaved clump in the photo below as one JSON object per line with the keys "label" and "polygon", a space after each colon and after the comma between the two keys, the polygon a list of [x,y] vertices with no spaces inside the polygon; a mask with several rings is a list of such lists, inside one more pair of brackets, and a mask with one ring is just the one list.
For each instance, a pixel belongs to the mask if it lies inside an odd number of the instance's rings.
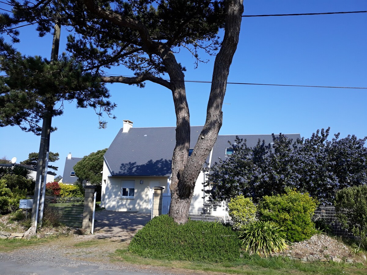
{"label": "larger bright yellow-green bush behind and right of the strappy-leaved clump", "polygon": [[308,193],[286,189],[286,194],[264,196],[259,204],[260,219],[273,221],[286,232],[290,242],[309,239],[316,233],[311,217],[317,202]]}

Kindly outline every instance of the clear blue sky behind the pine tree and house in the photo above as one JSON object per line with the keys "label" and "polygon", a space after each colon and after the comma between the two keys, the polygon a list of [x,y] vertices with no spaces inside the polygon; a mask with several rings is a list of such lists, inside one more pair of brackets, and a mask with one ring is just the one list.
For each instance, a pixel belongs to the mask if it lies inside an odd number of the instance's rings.
{"label": "clear blue sky behind the pine tree and house", "polygon": [[[0,4],[1,8],[6,8]],[[367,10],[366,0],[244,0],[245,15],[293,14]],[[367,87],[367,13],[243,18],[240,43],[228,82]],[[27,55],[50,58],[52,37],[38,38],[32,27],[21,28],[18,49]],[[66,31],[60,52],[65,46]],[[202,56],[204,57],[204,56]],[[186,80],[211,80],[214,57],[194,70],[194,59],[184,50],[177,58],[186,66]],[[111,73],[132,75],[122,67]],[[98,129],[92,109],[65,104],[64,115],[55,117],[50,150],[60,154],[62,175],[69,152],[83,157],[109,147],[129,119],[134,127],[175,126],[171,92],[147,83],[140,89],[124,84],[108,85],[117,103],[116,120]],[[203,125],[210,84],[187,83],[191,125]],[[228,84],[223,106],[224,121],[219,134],[300,133],[310,137],[317,129],[331,127],[341,137],[367,136],[367,90],[305,87],[276,87]],[[28,158],[38,152],[40,137],[17,127],[0,128],[0,157]]]}

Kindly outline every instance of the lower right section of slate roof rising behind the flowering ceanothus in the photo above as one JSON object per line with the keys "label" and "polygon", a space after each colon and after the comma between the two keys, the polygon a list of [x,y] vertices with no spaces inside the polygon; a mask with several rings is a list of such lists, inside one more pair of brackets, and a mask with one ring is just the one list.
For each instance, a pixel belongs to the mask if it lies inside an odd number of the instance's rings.
{"label": "lower right section of slate roof rising behind the flowering ceanothus", "polygon": [[[269,144],[270,142],[273,142],[272,135],[237,135],[240,139],[246,139],[247,147],[255,147],[258,140],[262,142],[262,140],[265,140],[265,144]],[[275,135],[279,136],[279,135]],[[285,134],[288,138],[292,139],[293,142],[297,140],[297,138],[301,138],[300,134]],[[218,162],[218,159],[226,159],[228,156],[225,155],[226,148],[230,148],[230,144],[228,141],[234,143],[236,139],[236,135],[219,135],[217,138],[217,141],[214,144],[213,147],[213,153],[211,157],[211,166]]]}

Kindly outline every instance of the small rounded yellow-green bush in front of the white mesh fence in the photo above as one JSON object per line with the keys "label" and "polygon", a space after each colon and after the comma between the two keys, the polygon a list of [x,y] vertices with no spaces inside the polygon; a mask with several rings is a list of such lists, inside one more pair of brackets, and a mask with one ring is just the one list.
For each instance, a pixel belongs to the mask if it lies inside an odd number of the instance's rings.
{"label": "small rounded yellow-green bush in front of the white mesh fence", "polygon": [[233,229],[235,230],[256,220],[256,206],[252,202],[252,198],[245,198],[243,195],[231,198],[228,208],[229,216],[234,223]]}

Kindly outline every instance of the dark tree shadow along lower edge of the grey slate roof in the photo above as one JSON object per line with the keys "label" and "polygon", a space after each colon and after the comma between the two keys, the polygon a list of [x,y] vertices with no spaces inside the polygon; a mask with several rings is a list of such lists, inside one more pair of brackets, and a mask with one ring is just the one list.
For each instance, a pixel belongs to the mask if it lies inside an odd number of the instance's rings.
{"label": "dark tree shadow along lower edge of the grey slate roof", "polygon": [[172,160],[158,159],[153,161],[150,159],[145,164],[137,164],[129,162],[120,165],[120,171],[114,176],[166,176],[171,175]]}

